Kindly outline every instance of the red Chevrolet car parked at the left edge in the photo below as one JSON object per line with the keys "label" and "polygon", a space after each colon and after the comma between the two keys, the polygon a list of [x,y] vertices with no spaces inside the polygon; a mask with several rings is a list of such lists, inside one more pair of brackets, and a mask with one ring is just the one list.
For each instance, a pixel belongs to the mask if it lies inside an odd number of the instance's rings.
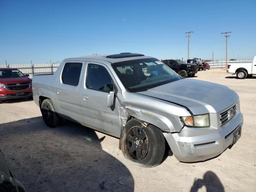
{"label": "red Chevrolet car parked at the left edge", "polygon": [[0,68],[0,100],[33,98],[32,80],[16,68]]}

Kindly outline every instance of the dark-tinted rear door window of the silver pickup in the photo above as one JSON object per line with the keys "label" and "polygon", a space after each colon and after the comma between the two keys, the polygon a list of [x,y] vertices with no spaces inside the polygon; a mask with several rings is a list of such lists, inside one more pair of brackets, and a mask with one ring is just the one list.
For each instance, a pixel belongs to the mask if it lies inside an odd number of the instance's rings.
{"label": "dark-tinted rear door window of the silver pickup", "polygon": [[66,63],[62,72],[62,82],[64,84],[78,86],[82,63]]}

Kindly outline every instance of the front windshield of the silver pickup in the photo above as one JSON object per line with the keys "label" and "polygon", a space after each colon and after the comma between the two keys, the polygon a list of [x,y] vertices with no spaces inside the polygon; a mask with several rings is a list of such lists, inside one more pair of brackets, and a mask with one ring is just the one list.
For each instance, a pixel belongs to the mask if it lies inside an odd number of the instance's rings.
{"label": "front windshield of the silver pickup", "polygon": [[178,74],[155,58],[113,63],[112,67],[130,92],[146,91],[181,79]]}

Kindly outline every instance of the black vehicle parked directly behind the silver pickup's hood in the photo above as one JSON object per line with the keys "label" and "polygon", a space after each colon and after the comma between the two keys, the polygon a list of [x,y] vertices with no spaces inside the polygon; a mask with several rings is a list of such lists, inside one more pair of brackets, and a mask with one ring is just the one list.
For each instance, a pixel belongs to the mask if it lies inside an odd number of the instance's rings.
{"label": "black vehicle parked directly behind the silver pickup's hood", "polygon": [[195,74],[197,73],[196,64],[188,64],[180,59],[178,60],[167,59],[167,60],[162,60],[162,62],[182,77],[187,77],[187,76],[194,77]]}

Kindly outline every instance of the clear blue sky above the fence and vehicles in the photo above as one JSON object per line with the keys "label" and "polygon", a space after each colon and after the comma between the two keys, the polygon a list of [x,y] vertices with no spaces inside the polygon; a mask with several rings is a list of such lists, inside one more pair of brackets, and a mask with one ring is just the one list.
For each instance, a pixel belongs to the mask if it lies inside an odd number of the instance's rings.
{"label": "clear blue sky above the fence and vehicles", "polygon": [[[158,59],[256,55],[256,0],[0,0],[0,64],[135,52]],[[231,46],[230,46],[231,45]],[[231,48],[232,47],[232,48]]]}

